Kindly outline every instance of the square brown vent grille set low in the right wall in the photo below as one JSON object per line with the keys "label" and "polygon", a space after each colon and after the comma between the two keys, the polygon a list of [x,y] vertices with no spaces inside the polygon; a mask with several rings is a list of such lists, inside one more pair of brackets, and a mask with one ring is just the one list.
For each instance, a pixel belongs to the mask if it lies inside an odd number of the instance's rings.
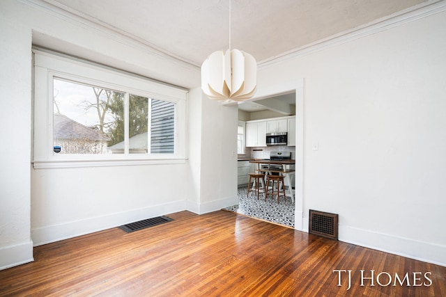
{"label": "square brown vent grille set low in the right wall", "polygon": [[337,240],[337,214],[309,210],[309,234]]}

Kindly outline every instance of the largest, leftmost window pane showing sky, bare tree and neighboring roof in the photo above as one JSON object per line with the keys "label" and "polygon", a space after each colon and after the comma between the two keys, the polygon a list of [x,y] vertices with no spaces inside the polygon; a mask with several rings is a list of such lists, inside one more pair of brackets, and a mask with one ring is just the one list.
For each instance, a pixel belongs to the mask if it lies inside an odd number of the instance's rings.
{"label": "largest, leftmost window pane showing sky, bare tree and neighboring roof", "polygon": [[123,141],[124,94],[61,79],[53,83],[54,152],[112,153],[109,146]]}

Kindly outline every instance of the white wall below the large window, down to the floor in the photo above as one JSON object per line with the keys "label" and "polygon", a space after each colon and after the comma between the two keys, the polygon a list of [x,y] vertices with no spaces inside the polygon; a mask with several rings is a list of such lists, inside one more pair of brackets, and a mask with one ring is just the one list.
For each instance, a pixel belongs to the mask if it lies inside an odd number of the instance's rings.
{"label": "white wall below the large window, down to the floor", "polygon": [[31,169],[35,246],[185,209],[180,164]]}

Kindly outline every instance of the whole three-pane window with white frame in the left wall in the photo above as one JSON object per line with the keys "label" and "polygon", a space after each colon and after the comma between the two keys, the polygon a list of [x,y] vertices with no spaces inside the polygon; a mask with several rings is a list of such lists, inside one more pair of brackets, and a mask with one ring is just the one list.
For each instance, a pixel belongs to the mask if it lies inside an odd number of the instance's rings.
{"label": "whole three-pane window with white frame in the left wall", "polygon": [[35,167],[185,159],[185,90],[33,51]]}

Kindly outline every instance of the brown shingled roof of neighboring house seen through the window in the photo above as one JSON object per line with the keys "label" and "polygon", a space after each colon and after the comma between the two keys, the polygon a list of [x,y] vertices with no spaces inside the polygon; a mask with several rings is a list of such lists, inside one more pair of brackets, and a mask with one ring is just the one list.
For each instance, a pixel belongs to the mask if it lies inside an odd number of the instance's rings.
{"label": "brown shingled roof of neighboring house seen through the window", "polygon": [[57,139],[88,139],[90,141],[109,141],[110,138],[100,131],[86,127],[66,115],[54,113],[54,138]]}

